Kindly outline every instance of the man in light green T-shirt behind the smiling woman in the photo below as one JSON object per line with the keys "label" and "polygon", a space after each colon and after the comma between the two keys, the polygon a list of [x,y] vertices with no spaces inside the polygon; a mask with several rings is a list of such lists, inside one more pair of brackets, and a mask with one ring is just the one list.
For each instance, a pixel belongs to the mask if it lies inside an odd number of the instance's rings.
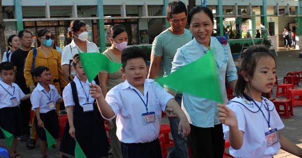
{"label": "man in light green T-shirt behind the smiling woman", "polygon": [[[161,60],[164,66],[164,76],[171,73],[172,61],[177,48],[182,47],[192,40],[190,31],[185,29],[187,23],[187,8],[181,1],[170,2],[167,6],[166,20],[170,23],[170,28],[158,35],[153,44],[151,52],[150,69],[148,78],[156,79],[159,73]],[[182,94],[177,94],[175,100],[181,104]],[[182,138],[182,133],[178,134],[179,118],[169,118],[174,146],[168,157],[189,157],[188,140]]]}

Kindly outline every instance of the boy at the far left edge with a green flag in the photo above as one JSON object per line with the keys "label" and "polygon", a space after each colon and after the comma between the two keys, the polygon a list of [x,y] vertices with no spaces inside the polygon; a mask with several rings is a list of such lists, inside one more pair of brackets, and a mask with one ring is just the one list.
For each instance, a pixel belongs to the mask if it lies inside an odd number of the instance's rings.
{"label": "boy at the far left edge with a green flag", "polygon": [[22,116],[18,107],[20,101],[29,99],[31,94],[24,94],[20,87],[12,83],[15,71],[11,62],[0,63],[0,128],[3,131],[10,157],[21,157],[16,152],[17,136],[22,134]]}

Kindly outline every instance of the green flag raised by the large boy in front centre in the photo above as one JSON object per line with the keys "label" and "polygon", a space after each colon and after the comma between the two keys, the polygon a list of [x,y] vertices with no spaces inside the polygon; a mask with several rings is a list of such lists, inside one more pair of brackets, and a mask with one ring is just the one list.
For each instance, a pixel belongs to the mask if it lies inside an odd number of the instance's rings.
{"label": "green flag raised by the large boy in front centre", "polygon": [[114,63],[101,53],[80,53],[80,59],[88,81],[91,82],[101,70],[114,73],[122,64]]}

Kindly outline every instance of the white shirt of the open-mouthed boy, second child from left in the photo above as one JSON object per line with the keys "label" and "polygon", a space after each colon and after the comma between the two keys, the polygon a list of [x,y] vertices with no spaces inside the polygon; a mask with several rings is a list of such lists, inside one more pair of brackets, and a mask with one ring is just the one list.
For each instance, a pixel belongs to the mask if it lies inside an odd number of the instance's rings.
{"label": "white shirt of the open-mouthed boy, second child from left", "polygon": [[[39,107],[40,113],[47,113],[48,111],[55,110],[55,103],[58,99],[62,98],[60,94],[58,93],[57,89],[49,84],[49,92],[41,86],[40,82],[37,84],[37,87],[34,89],[30,96],[30,101],[32,103],[32,110],[35,110],[35,108]],[[44,92],[44,93],[43,93]],[[47,94],[47,95],[46,95]],[[50,100],[54,103],[54,108],[49,109],[47,103]]]}

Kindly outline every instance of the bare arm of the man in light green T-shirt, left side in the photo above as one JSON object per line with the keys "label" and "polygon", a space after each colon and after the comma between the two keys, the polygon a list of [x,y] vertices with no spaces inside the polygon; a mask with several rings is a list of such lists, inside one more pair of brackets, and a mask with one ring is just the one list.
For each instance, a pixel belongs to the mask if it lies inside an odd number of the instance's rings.
{"label": "bare arm of the man in light green T-shirt, left side", "polygon": [[161,56],[156,56],[154,54],[151,54],[150,56],[150,68],[149,68],[149,73],[148,77],[150,79],[156,79],[159,75],[159,70],[161,66]]}

